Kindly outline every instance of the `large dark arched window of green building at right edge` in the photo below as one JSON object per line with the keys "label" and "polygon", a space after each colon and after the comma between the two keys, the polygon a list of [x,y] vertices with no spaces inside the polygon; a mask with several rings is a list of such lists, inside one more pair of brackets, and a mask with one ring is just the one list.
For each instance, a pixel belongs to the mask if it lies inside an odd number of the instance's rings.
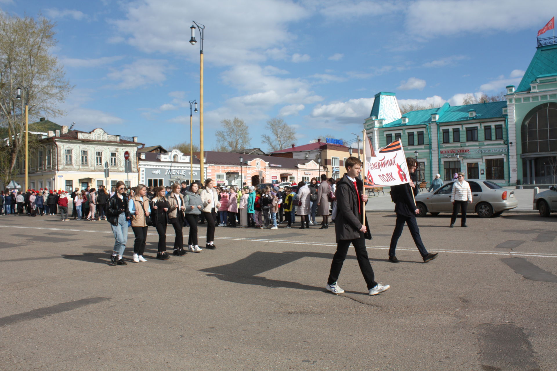
{"label": "large dark arched window of green building at right edge", "polygon": [[522,121],[522,153],[557,151],[557,103],[533,108]]}

